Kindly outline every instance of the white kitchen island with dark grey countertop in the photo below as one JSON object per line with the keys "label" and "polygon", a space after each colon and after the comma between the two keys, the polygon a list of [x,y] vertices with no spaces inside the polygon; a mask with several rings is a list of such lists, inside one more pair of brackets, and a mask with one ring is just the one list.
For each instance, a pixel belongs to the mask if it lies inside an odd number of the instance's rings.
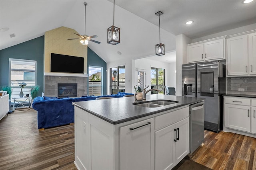
{"label": "white kitchen island with dark grey countertop", "polygon": [[203,99],[146,96],[146,101],[156,100],[174,103],[143,107],[139,106],[142,101],[134,103],[134,97],[72,103],[76,167],[160,170],[178,164],[188,154],[189,105]]}

